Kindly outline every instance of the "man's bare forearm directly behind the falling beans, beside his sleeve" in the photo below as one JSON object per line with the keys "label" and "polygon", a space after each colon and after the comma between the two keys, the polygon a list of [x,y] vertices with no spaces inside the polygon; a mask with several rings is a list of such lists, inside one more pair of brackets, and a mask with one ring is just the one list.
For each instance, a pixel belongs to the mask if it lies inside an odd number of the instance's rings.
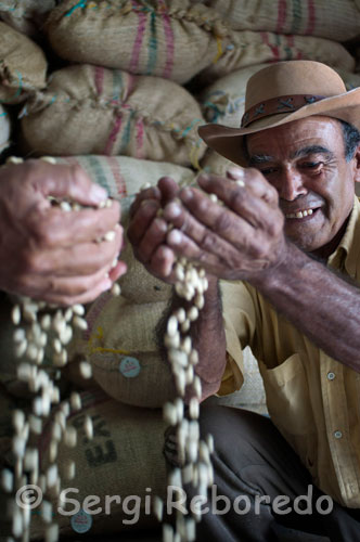
{"label": "man's bare forearm directly behind the falling beans, beside his sleeve", "polygon": [[[164,345],[167,320],[173,311],[181,307],[188,310],[191,302],[175,294],[169,309],[157,327],[158,344],[164,357],[167,353]],[[226,337],[221,298],[216,279],[209,279],[209,286],[205,293],[205,306],[198,311],[198,319],[192,323],[189,333],[193,347],[198,352],[195,373],[202,380],[202,400],[204,400],[219,389],[226,366]],[[189,399],[188,395],[187,399]]]}

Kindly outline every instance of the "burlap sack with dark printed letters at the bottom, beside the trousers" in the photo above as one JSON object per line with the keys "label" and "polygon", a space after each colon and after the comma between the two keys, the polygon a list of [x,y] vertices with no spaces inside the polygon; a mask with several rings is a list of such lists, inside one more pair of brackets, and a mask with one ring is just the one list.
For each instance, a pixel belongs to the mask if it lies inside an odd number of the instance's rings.
{"label": "burlap sack with dark printed letters at the bottom, beside the trousers", "polygon": [[[60,443],[56,464],[63,480],[62,489],[67,490],[67,499],[76,499],[81,508],[88,495],[100,499],[99,505],[92,509],[100,507],[101,512],[92,515],[92,526],[83,531],[83,535],[113,532],[119,539],[129,529],[156,527],[152,501],[155,495],[166,494],[166,464],[163,455],[166,424],[162,411],[129,408],[102,391],[82,392],[81,401],[82,410],[70,413],[67,422],[78,431],[77,446],[67,448]],[[93,423],[92,440],[88,440],[83,430],[86,415]],[[47,429],[39,441],[42,469],[49,465],[50,427]],[[76,463],[76,475],[70,480],[66,479],[69,461]],[[106,495],[117,495],[120,502],[110,502],[106,507]],[[53,503],[53,521],[59,524],[60,535],[76,535],[79,532],[74,524],[77,519],[74,515],[76,503],[63,504],[62,509],[72,513],[65,516],[57,509],[59,504],[51,493],[44,496]],[[136,507],[139,508],[138,520],[136,512],[130,513]],[[46,524],[36,511],[40,512],[36,508],[31,515],[31,539],[43,540]]]}

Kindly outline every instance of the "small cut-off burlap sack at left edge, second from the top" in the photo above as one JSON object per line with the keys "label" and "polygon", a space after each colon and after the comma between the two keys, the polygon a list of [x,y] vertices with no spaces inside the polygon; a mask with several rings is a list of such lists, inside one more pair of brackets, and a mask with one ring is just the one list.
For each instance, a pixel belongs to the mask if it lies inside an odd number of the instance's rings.
{"label": "small cut-off burlap sack at left edge, second from the top", "polygon": [[0,102],[22,102],[46,86],[47,60],[23,34],[0,22]]}

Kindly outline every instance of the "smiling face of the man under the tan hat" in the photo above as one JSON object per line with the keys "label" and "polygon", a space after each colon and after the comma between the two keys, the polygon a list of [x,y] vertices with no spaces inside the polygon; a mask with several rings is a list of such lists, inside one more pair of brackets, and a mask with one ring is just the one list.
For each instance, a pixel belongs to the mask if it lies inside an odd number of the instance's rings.
{"label": "smiling face of the man under the tan hat", "polygon": [[247,150],[249,165],[279,193],[286,236],[305,251],[334,240],[351,211],[358,175],[357,155],[345,159],[340,122],[295,120],[248,136]]}

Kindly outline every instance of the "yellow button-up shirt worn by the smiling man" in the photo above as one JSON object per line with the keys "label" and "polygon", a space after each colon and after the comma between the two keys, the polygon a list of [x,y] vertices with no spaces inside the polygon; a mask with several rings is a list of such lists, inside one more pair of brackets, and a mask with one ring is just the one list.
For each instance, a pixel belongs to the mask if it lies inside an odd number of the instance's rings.
{"label": "yellow button-up shirt worn by the smiling man", "polygon": [[[360,283],[358,198],[327,264]],[[247,283],[223,282],[221,289],[228,363],[218,393],[242,386],[242,349],[249,345],[273,423],[314,483],[340,504],[359,508],[360,373],[326,356]]]}

